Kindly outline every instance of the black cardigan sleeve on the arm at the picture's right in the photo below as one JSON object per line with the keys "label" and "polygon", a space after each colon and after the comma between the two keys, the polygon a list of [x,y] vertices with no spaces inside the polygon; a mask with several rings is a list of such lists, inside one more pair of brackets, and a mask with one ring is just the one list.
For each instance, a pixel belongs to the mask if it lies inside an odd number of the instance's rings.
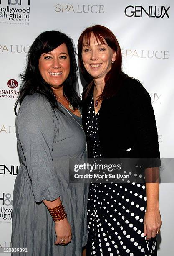
{"label": "black cardigan sleeve on the arm at the picture's right", "polygon": [[136,144],[141,152],[144,167],[158,167],[159,144],[154,110],[151,105],[151,97],[140,82],[134,80],[130,87],[130,111]]}

